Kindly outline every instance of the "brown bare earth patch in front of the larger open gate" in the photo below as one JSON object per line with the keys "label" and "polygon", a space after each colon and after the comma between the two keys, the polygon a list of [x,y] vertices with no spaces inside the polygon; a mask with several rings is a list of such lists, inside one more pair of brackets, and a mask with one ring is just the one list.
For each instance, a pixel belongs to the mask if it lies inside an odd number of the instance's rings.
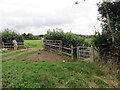
{"label": "brown bare earth patch in front of the larger open gate", "polygon": [[26,55],[22,59],[31,61],[63,61],[61,55],[44,50],[41,50],[39,53]]}

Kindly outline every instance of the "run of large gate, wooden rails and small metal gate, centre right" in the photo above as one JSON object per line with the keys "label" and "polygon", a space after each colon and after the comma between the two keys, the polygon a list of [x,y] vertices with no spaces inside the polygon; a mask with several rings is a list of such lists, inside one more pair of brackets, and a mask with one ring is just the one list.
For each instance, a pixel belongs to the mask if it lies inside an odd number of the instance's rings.
{"label": "run of large gate, wooden rails and small metal gate, centre right", "polygon": [[61,40],[44,40],[44,49],[58,54],[65,54],[73,59],[73,50],[77,48],[77,59],[90,58],[90,62],[94,61],[94,49],[92,47],[77,46],[77,47],[63,47]]}

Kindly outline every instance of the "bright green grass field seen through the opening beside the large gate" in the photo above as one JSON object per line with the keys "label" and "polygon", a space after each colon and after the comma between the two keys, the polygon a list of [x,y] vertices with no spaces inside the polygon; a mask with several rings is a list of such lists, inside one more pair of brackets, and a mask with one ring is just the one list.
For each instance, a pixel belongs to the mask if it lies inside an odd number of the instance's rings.
{"label": "bright green grass field seen through the opening beside the large gate", "polygon": [[25,48],[43,48],[42,40],[24,40]]}

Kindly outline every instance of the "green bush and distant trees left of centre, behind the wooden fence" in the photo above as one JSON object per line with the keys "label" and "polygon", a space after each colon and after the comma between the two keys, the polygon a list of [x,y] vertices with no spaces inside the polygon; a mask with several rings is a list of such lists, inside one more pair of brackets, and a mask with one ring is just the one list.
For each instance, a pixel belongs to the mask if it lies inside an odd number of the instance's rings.
{"label": "green bush and distant trees left of centre, behind the wooden fence", "polygon": [[24,40],[40,40],[43,35],[33,35],[32,33],[23,33],[19,34],[10,29],[5,29],[3,32],[0,32],[0,38],[2,42],[12,43],[12,40],[16,40],[17,42],[23,42]]}

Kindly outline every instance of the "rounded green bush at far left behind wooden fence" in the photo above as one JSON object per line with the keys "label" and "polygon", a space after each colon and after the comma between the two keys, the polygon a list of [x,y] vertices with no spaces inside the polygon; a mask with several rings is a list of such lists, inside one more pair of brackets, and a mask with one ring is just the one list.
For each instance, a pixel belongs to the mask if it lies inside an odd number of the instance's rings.
{"label": "rounded green bush at far left behind wooden fence", "polygon": [[16,40],[17,42],[23,42],[23,37],[20,34],[17,34],[14,31],[11,31],[9,29],[5,29],[3,32],[1,32],[2,35],[2,42],[5,43],[12,43],[12,40]]}

